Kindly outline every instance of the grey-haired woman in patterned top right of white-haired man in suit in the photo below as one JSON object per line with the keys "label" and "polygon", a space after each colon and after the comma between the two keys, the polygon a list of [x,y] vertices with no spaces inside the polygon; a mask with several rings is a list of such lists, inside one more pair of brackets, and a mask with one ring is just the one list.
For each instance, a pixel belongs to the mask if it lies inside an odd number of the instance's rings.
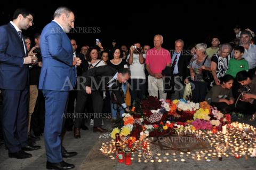
{"label": "grey-haired woman in patterned top right of white-haired man in suit", "polygon": [[[191,83],[193,86],[192,98],[193,102],[202,102],[207,93],[208,82],[203,78],[203,70],[211,71],[211,61],[205,54],[207,45],[199,43],[196,45],[196,56],[189,63]],[[188,80],[186,80],[186,83]]]}

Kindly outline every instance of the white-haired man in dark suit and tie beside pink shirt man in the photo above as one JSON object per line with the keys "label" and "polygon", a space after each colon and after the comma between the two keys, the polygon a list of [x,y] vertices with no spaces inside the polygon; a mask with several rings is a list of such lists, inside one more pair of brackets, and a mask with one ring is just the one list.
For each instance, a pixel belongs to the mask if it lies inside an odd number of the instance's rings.
{"label": "white-haired man in dark suit and tie beside pink shirt man", "polygon": [[[171,70],[174,78],[174,91],[168,99],[183,98],[185,79],[190,75],[187,68],[191,55],[183,51],[184,42],[182,39],[175,41],[175,52],[172,55]],[[188,83],[188,82],[187,82]]]}

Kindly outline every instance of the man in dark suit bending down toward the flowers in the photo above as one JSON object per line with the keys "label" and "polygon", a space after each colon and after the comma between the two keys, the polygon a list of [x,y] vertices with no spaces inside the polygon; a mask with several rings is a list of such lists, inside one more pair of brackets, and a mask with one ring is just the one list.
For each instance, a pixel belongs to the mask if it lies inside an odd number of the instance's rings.
{"label": "man in dark suit bending down toward the flowers", "polygon": [[[83,113],[85,103],[87,100],[87,94],[92,96],[93,112],[94,112],[94,127],[93,132],[107,132],[106,129],[101,127],[101,113],[103,108],[102,91],[110,90],[117,98],[118,103],[126,110],[127,108],[124,98],[121,95],[120,87],[122,83],[125,83],[131,76],[131,72],[127,68],[117,71],[110,66],[100,66],[92,68],[82,75],[83,82],[79,82],[77,103],[76,103],[76,116],[79,117],[79,113]],[[85,83],[84,83],[85,82]],[[75,118],[75,134],[79,137],[79,125],[81,125],[82,119]]]}

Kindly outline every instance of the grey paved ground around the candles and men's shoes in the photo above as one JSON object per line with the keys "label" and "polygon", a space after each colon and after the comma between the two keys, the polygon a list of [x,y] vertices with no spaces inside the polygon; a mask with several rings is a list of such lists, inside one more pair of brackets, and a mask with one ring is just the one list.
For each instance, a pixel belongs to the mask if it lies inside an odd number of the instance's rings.
{"label": "grey paved ground around the candles and men's shoes", "polygon": [[[239,120],[239,122],[249,123],[253,126],[256,126],[256,120],[254,122],[248,121],[249,116],[246,116],[244,120]],[[236,121],[233,119],[233,121]],[[105,120],[105,127],[111,130],[109,121]],[[90,127],[92,128],[92,127]],[[74,139],[73,132],[67,132],[65,140],[63,141],[65,148],[68,151],[77,151],[78,155],[65,159],[68,163],[75,164],[75,169],[256,169],[256,158],[249,158],[245,160],[244,158],[234,159],[234,158],[223,158],[222,161],[218,159],[213,159],[210,163],[205,160],[195,161],[187,159],[185,163],[181,161],[174,162],[170,159],[170,163],[138,163],[133,161],[131,166],[126,166],[124,164],[117,163],[116,160],[111,160],[108,157],[103,156],[99,147],[101,143],[106,139],[99,139],[100,133],[92,133],[92,129],[89,131],[81,131],[82,138]],[[17,170],[17,169],[26,169],[26,170],[41,170],[46,169],[46,156],[44,148],[43,137],[41,141],[37,143],[42,146],[42,149],[31,151],[33,157],[29,159],[14,159],[8,158],[7,150],[4,149],[4,145],[0,146],[0,169],[5,170]],[[169,156],[171,158],[171,156]]]}

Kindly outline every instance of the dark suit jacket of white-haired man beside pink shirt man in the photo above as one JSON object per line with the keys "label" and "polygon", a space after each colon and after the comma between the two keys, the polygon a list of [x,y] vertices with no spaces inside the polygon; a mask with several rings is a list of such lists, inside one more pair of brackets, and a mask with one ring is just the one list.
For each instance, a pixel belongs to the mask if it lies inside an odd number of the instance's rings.
{"label": "dark suit jacket of white-haired man beside pink shirt man", "polygon": [[178,61],[178,70],[179,76],[182,77],[182,81],[184,81],[188,76],[190,76],[188,65],[191,60],[191,57],[191,55],[180,55]]}

